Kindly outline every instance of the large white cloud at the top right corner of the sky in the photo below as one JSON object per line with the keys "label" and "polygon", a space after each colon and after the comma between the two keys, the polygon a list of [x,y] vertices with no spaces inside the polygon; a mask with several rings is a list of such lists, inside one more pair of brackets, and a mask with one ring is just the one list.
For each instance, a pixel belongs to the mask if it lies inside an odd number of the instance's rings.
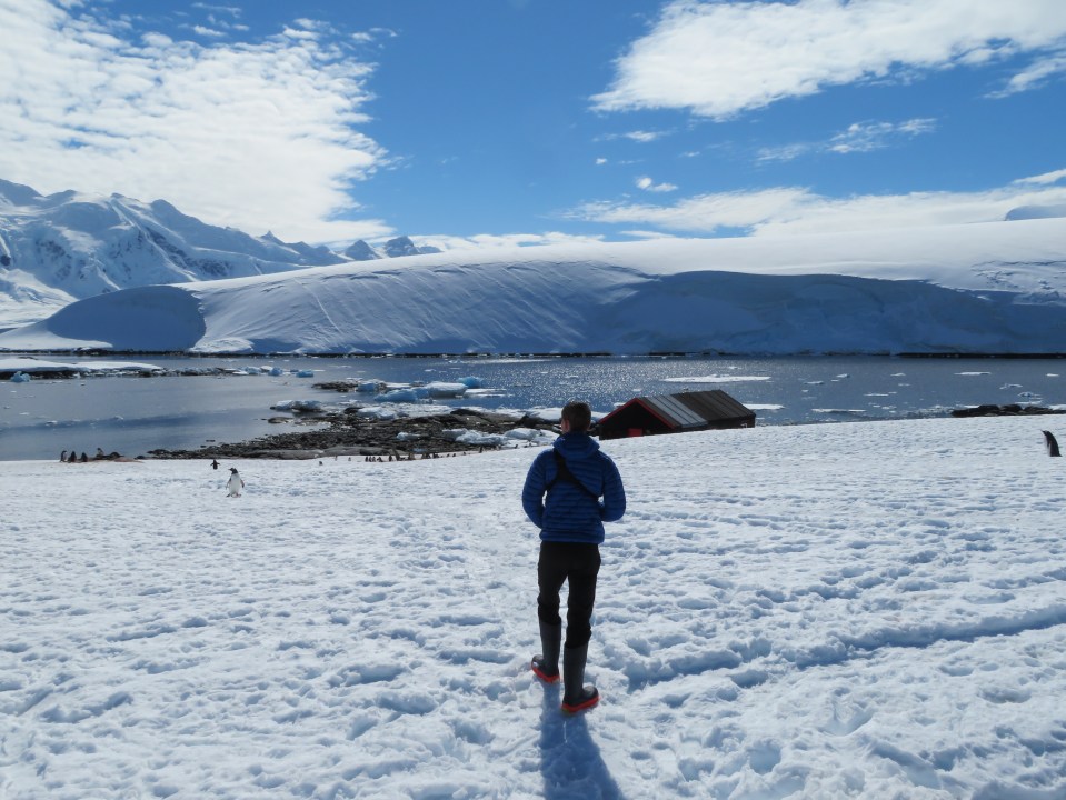
{"label": "large white cloud at the top right corner of the sky", "polygon": [[1062,0],[674,0],[592,102],[725,119],[830,86],[1064,48]]}

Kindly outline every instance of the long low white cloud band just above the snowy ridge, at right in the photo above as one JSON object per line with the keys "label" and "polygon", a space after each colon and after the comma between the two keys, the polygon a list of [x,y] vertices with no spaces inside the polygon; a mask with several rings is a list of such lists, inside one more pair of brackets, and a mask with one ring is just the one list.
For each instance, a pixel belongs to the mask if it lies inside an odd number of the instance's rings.
{"label": "long low white cloud band just above the snowy ridge, at right", "polygon": [[[1059,178],[1066,170],[1057,174]],[[599,202],[582,206],[571,218],[612,224],[651,224],[668,231],[714,234],[746,230],[753,234],[811,233],[880,228],[911,228],[1002,220],[1019,207],[1066,203],[1066,186],[1028,179],[1027,183],[984,192],[913,192],[828,198],[803,188],[700,194],[671,206]],[[1040,186],[1030,186],[1037,183]]]}

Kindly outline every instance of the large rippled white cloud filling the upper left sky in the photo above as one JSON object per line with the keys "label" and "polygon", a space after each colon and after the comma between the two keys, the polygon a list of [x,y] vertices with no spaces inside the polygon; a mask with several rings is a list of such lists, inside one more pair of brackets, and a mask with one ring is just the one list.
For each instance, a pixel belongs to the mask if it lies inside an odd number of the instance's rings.
{"label": "large rippled white cloud filling the upper left sky", "polygon": [[[360,133],[371,67],[313,23],[203,46],[46,0],[0,0],[0,174],[42,192],[166,198],[285,239],[387,234],[347,190],[387,162]],[[137,38],[135,38],[137,37]]]}

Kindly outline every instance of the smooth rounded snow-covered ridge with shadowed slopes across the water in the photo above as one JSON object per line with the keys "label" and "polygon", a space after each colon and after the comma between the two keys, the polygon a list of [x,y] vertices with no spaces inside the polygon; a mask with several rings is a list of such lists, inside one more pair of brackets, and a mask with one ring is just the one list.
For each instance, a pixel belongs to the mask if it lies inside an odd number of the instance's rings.
{"label": "smooth rounded snow-covered ridge with shadowed slopes across the water", "polygon": [[449,251],[142,287],[0,348],[198,352],[1066,351],[1066,219]]}

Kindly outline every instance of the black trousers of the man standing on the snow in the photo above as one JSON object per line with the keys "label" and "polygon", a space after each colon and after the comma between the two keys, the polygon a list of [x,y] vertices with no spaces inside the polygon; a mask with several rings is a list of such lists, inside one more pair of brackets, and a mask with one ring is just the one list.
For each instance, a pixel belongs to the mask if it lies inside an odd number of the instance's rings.
{"label": "black trousers of the man standing on the snow", "polygon": [[566,611],[566,646],[581,647],[592,636],[592,606],[599,574],[599,547],[576,542],[540,542],[537,562],[537,617],[547,624],[560,624],[559,590],[569,581]]}

